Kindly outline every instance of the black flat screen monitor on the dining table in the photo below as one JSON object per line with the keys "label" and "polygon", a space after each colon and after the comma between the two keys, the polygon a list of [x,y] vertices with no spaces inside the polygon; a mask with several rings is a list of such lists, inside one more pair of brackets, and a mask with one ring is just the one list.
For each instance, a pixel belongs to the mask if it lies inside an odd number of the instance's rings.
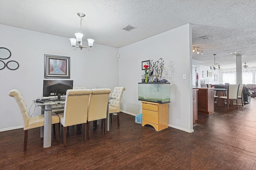
{"label": "black flat screen monitor on the dining table", "polygon": [[66,95],[68,89],[73,89],[73,80],[44,80],[43,97]]}

